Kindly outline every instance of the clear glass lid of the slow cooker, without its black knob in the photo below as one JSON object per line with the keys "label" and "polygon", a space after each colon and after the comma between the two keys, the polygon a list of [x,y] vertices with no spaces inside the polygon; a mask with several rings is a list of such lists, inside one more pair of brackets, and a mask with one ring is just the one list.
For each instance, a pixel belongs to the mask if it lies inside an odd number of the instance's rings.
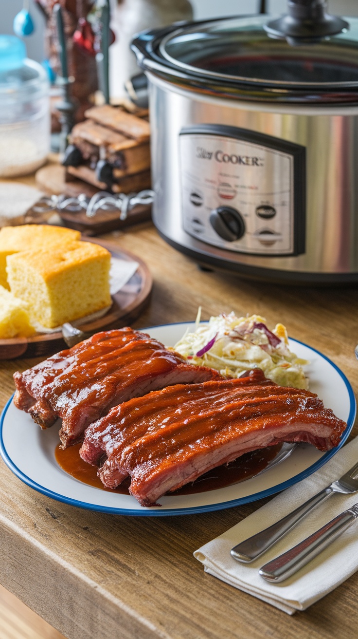
{"label": "clear glass lid of the slow cooker, without its black knob", "polygon": [[222,19],[172,31],[160,54],[186,73],[277,86],[358,86],[358,19],[349,31],[292,47],[267,36],[267,16]]}

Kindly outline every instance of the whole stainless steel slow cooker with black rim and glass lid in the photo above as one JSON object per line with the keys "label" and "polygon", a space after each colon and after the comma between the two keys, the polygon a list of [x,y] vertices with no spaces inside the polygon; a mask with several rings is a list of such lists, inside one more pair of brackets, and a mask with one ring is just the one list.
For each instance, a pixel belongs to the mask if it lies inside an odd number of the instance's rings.
{"label": "whole stainless steel slow cooker with black rim and glass lid", "polygon": [[154,224],[202,265],[357,282],[358,19],[288,10],[136,36]]}

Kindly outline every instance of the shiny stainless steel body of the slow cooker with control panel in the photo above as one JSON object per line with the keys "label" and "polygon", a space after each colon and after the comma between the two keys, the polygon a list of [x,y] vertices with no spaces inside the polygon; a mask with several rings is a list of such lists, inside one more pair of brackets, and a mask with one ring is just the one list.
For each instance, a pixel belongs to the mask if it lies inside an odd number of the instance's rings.
{"label": "shiny stainless steel body of the slow cooker with control panel", "polygon": [[153,219],[200,263],[358,281],[358,107],[260,104],[147,73]]}

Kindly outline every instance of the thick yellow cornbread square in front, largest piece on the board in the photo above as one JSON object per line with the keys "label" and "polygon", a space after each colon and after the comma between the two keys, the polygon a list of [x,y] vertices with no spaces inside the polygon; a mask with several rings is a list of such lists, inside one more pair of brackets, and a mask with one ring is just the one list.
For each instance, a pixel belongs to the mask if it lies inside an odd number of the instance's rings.
{"label": "thick yellow cornbread square in front, largest piece on the board", "polygon": [[34,325],[55,328],[111,304],[110,253],[98,244],[24,251],[6,262],[11,293],[27,302]]}

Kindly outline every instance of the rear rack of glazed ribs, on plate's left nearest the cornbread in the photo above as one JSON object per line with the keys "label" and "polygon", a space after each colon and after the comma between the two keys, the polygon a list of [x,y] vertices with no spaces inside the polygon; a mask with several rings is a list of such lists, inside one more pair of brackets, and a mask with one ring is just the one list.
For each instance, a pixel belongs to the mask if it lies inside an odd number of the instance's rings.
{"label": "rear rack of glazed ribs, on plate's left nearest the cornbread", "polygon": [[121,328],[97,333],[15,373],[14,403],[42,428],[58,417],[62,447],[82,440],[86,427],[112,406],[170,384],[221,378],[209,368],[186,364],[149,335]]}

